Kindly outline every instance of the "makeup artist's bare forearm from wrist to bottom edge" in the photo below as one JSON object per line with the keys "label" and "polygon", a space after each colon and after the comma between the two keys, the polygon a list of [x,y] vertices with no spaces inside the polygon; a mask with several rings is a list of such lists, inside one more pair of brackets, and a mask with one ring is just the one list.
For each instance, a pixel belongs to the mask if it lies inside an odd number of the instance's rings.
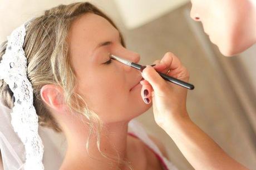
{"label": "makeup artist's bare forearm from wrist to bottom edge", "polygon": [[173,139],[191,166],[198,169],[247,169],[229,157],[217,143],[190,119],[170,124],[165,132]]}

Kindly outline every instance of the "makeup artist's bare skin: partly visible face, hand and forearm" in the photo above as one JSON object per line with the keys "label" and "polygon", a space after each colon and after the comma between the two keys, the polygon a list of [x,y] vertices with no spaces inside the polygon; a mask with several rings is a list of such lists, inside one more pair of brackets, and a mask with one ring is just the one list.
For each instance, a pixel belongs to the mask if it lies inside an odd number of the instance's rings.
{"label": "makeup artist's bare skin: partly visible face, hand and forearm", "polygon": [[[203,24],[210,41],[224,56],[234,56],[256,42],[256,6],[249,0],[192,0],[191,18]],[[217,27],[218,26],[218,27]],[[169,134],[195,169],[247,169],[235,161],[189,118],[185,88],[164,81],[156,71],[188,82],[189,73],[173,53],[147,66],[141,81],[147,89],[156,123]],[[142,96],[143,98],[143,96]]]}

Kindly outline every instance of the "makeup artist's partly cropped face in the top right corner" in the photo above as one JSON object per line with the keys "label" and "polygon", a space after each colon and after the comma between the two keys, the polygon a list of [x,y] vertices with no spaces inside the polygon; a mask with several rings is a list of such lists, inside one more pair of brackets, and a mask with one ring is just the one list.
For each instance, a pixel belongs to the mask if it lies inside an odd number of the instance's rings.
{"label": "makeup artist's partly cropped face in the top right corner", "polygon": [[[253,0],[252,0],[253,1]],[[225,56],[233,56],[255,41],[255,9],[250,0],[191,0],[191,18]]]}

